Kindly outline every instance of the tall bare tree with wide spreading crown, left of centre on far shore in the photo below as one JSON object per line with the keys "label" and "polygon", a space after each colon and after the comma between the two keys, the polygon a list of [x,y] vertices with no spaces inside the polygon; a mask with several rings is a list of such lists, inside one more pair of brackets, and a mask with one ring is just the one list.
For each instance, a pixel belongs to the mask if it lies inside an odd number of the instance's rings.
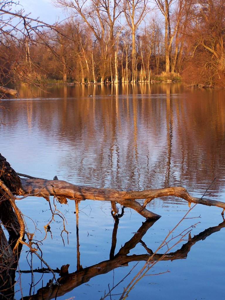
{"label": "tall bare tree with wide spreading crown, left of centre on far shore", "polygon": [[[114,56],[116,47],[116,32],[114,31],[115,22],[121,15],[120,2],[113,0],[56,0],[58,5],[67,9],[70,17],[81,18],[95,37],[93,43],[98,43],[99,54],[99,73],[101,82],[111,73],[110,56]],[[117,79],[118,80],[118,79]]]}

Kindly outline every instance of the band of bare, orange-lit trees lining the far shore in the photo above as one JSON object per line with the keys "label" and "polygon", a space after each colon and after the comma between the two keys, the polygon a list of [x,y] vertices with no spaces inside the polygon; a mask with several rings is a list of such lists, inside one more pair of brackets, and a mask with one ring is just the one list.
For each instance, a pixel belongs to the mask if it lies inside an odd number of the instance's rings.
{"label": "band of bare, orange-lit trees lining the far shore", "polygon": [[1,85],[182,78],[225,86],[225,0],[54,3],[67,18],[49,26],[1,1]]}

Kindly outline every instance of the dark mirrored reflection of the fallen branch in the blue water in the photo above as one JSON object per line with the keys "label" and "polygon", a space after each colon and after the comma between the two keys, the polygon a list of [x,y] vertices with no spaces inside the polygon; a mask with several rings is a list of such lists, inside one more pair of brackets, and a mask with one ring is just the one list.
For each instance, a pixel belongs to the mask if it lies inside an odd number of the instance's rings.
{"label": "dark mirrored reflection of the fallen branch in the blue water", "polygon": [[[84,283],[87,283],[92,277],[108,273],[112,271],[115,268],[121,267],[121,266],[128,266],[129,262],[138,262],[138,261],[161,261],[161,260],[170,260],[173,261],[175,259],[184,259],[187,258],[187,254],[190,251],[191,247],[198,241],[205,240],[209,235],[220,231],[220,229],[225,227],[225,221],[223,220],[222,223],[220,223],[218,226],[210,227],[208,229],[205,229],[203,232],[200,232],[197,235],[194,235],[192,238],[189,234],[188,241],[182,245],[182,247],[175,252],[170,253],[154,253],[143,241],[143,237],[146,234],[146,232],[149,230],[149,228],[155,223],[155,221],[146,220],[140,228],[137,230],[137,232],[133,235],[133,237],[128,240],[124,246],[120,248],[118,253],[114,254],[114,250],[116,248],[116,234],[118,230],[119,225],[119,218],[114,216],[114,229],[113,229],[113,235],[112,235],[112,246],[110,250],[110,259],[104,260],[102,262],[99,262],[95,265],[91,265],[86,268],[82,268],[82,266],[78,263],[77,270],[72,273],[68,273],[68,267],[69,264],[62,266],[61,268],[57,268],[54,270],[55,273],[59,273],[60,277],[58,278],[58,282],[60,285],[53,283],[48,283],[45,287],[42,287],[38,289],[37,293],[34,295],[29,295],[26,297],[23,297],[25,300],[48,300],[52,298],[57,298],[60,296],[65,295],[67,292],[70,292],[71,290],[75,289],[77,286],[80,286]],[[143,248],[146,250],[147,253],[145,254],[132,254],[128,255],[131,251],[131,249],[134,249],[137,244],[140,243],[143,245]],[[77,262],[79,261],[79,250],[77,251]],[[65,271],[63,271],[65,270]],[[38,273],[48,273],[48,269],[35,269],[35,270],[27,270],[27,271],[20,271],[21,273],[28,273],[28,272],[38,272]],[[120,278],[122,279],[122,278]],[[117,278],[117,282],[119,280]],[[35,283],[31,283],[35,284]],[[120,285],[123,285],[124,283],[121,282]],[[120,286],[121,291],[123,290],[123,287]]]}

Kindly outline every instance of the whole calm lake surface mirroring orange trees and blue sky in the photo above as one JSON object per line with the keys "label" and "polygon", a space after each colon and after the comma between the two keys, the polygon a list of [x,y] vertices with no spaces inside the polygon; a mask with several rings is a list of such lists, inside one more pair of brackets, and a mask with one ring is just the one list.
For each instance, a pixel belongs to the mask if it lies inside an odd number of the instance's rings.
{"label": "whole calm lake surface mirroring orange trees and blue sky", "polygon": [[[225,201],[224,90],[54,85],[45,91],[22,86],[19,95],[1,101],[6,109],[0,110],[6,124],[0,152],[16,172],[118,190],[183,186],[192,196]],[[34,240],[43,240],[49,203],[27,197],[17,205]],[[79,218],[73,200],[56,208],[68,236],[56,215],[40,249],[56,278],[62,265],[69,264],[69,274],[60,287],[51,286],[52,273],[40,271],[46,266],[23,247],[15,299],[117,300],[127,286],[129,299],[224,298],[221,208],[192,204],[189,211],[183,199],[158,198],[147,206],[161,215],[156,222],[120,205],[120,218],[113,218],[108,201],[81,201]]]}

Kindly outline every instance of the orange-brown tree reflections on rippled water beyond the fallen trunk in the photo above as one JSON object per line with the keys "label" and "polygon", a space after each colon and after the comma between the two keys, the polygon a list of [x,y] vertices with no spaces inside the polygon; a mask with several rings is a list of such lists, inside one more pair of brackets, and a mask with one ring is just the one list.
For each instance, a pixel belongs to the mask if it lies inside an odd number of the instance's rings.
{"label": "orange-brown tree reflections on rippled water beyond the fallen trunk", "polygon": [[201,196],[216,177],[213,196],[224,190],[222,90],[122,84],[19,93],[22,100],[4,101],[10,111],[1,111],[2,143],[26,140],[28,147],[19,144],[24,158],[28,149],[37,156],[37,143],[40,159],[57,153],[65,180],[118,189],[184,185]]}

